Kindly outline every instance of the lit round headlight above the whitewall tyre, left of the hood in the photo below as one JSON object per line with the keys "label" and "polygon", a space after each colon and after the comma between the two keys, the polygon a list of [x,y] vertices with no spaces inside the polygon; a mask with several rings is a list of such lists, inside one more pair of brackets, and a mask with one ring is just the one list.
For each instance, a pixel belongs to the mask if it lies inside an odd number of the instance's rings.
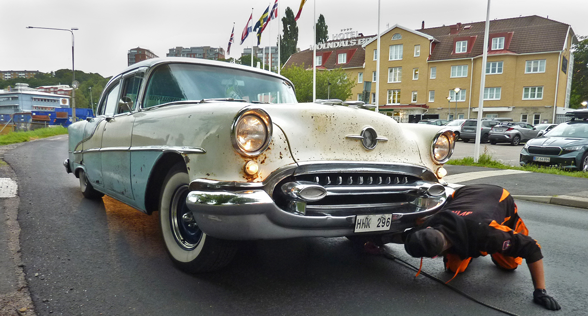
{"label": "lit round headlight above the whitewall tyre, left of the hood", "polygon": [[272,121],[262,109],[243,109],[233,122],[233,147],[244,156],[263,152],[272,137]]}

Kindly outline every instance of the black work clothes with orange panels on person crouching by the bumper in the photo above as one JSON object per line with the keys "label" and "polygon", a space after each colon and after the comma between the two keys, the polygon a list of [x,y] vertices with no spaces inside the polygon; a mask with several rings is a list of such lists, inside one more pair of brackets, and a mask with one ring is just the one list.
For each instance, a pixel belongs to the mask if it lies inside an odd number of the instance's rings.
{"label": "black work clothes with orange panels on person crouching by the bumper", "polygon": [[499,186],[460,187],[439,213],[404,236],[427,227],[445,234],[452,244],[449,253],[462,260],[493,253],[522,257],[527,264],[543,258],[539,244],[527,236],[512,196]]}

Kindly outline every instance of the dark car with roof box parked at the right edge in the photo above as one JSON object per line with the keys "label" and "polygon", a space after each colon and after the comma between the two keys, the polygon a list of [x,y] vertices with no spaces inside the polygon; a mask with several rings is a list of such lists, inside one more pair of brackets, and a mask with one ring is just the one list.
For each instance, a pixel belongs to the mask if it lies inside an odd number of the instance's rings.
{"label": "dark car with roof box parked at the right edge", "polygon": [[537,164],[588,172],[588,112],[573,112],[567,114],[573,117],[572,121],[555,126],[524,145],[519,161],[522,166]]}

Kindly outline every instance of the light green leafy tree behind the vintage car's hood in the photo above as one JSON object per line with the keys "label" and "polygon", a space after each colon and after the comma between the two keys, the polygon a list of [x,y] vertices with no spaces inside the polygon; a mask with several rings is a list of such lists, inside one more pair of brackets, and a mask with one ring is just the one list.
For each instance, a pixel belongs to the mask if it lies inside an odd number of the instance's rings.
{"label": "light green leafy tree behind the vintage car's hood", "polygon": [[[282,70],[282,76],[290,79],[296,89],[298,102],[312,102],[312,70],[293,66]],[[329,93],[330,82],[330,93]],[[320,70],[316,72],[316,98],[346,100],[351,96],[355,78],[347,78],[343,69]]]}

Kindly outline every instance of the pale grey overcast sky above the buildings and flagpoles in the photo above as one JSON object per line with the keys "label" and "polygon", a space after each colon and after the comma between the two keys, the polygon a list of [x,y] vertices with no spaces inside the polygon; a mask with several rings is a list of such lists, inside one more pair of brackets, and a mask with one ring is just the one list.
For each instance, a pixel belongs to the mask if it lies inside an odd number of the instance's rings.
{"label": "pale grey overcast sky above the buildings and flagpoles", "polygon": [[[300,0],[279,0],[280,16],[287,6],[294,14]],[[308,0],[298,20],[300,49],[312,44],[313,5],[323,14],[329,35],[352,28],[364,35],[377,32],[377,0]],[[253,8],[253,20],[269,0],[0,0],[0,70],[71,69],[71,34],[26,29],[79,28],[75,32],[75,68],[112,76],[127,66],[127,52],[140,46],[165,57],[175,46],[214,46],[226,50],[235,22],[230,57],[250,47],[239,45]],[[272,0],[273,3],[273,0]],[[485,0],[382,1],[381,31],[399,24],[411,29],[479,22],[486,19]],[[492,0],[490,19],[539,15],[567,23],[577,36],[588,35],[586,0]],[[263,32],[262,45],[275,45],[281,22]]]}

